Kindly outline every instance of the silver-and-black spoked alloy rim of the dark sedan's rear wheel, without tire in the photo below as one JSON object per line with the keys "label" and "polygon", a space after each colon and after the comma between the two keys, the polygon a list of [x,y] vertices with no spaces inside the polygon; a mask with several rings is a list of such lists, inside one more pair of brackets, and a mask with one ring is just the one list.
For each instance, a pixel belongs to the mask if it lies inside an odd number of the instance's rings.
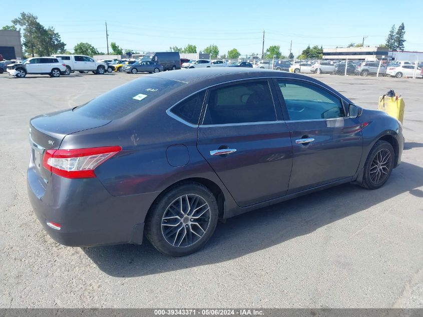
{"label": "silver-and-black spoked alloy rim of the dark sedan's rear wheel, without tire", "polygon": [[195,194],[176,198],[162,217],[162,234],[174,247],[189,247],[204,236],[210,225],[210,206]]}

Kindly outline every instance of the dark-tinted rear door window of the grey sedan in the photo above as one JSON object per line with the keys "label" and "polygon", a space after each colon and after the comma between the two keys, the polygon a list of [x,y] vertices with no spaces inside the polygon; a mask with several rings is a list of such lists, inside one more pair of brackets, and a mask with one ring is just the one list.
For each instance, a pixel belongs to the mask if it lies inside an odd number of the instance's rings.
{"label": "dark-tinted rear door window of the grey sedan", "polygon": [[204,125],[276,121],[267,81],[244,82],[210,91]]}

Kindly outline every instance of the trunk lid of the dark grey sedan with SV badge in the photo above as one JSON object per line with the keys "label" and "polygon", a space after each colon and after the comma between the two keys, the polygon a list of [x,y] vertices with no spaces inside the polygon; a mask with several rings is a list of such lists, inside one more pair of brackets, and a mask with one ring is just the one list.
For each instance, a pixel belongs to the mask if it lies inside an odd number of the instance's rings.
{"label": "trunk lid of the dark grey sedan with SV badge", "polygon": [[111,120],[82,116],[72,109],[41,115],[30,121],[30,144],[32,160],[37,173],[47,181],[52,173],[43,166],[43,155],[50,149],[58,149],[68,134],[98,128]]}

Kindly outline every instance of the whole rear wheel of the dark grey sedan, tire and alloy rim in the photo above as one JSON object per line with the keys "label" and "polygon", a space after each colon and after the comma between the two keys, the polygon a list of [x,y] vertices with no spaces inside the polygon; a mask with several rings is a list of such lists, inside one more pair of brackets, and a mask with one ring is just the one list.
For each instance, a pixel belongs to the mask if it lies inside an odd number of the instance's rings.
{"label": "whole rear wheel of the dark grey sedan, tire and alloy rim", "polygon": [[146,217],[146,236],[163,254],[183,256],[201,249],[216,228],[218,208],[204,185],[185,183],[157,199]]}

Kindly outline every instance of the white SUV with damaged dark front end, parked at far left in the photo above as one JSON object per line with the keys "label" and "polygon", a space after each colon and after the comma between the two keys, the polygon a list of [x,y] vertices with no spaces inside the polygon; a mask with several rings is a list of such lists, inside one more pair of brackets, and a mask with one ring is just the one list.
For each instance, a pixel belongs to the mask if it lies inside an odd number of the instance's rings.
{"label": "white SUV with damaged dark front end, parked at far left", "polygon": [[10,76],[24,78],[27,74],[50,75],[59,77],[66,71],[66,65],[60,58],[32,57],[18,64],[10,64],[6,70]]}

